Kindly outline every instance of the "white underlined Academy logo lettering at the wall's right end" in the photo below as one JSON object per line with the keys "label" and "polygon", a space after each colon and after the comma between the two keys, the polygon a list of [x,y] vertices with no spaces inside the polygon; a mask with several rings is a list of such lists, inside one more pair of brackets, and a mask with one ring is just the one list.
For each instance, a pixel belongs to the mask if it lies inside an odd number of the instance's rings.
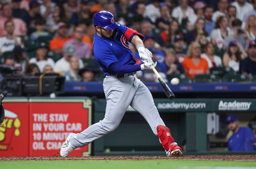
{"label": "white underlined Academy logo lettering at the wall's right end", "polygon": [[219,110],[249,110],[252,102],[220,100]]}

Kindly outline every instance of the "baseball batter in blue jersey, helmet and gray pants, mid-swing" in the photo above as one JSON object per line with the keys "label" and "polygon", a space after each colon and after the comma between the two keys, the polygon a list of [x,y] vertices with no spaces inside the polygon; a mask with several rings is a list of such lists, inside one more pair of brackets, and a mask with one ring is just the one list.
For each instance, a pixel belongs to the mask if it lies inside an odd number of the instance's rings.
{"label": "baseball batter in blue jersey, helmet and gray pants, mid-swing", "polygon": [[[93,20],[96,29],[93,52],[106,75],[103,80],[107,99],[105,117],[81,133],[70,133],[61,146],[60,156],[66,157],[76,148],[114,131],[129,105],[146,119],[153,133],[159,137],[167,156],[181,156],[182,150],[159,116],[151,93],[135,76],[136,71],[152,69],[151,65],[156,67],[151,59],[152,53],[144,48],[144,36],[117,23],[114,15],[108,11],[96,13]],[[134,65],[136,61],[127,41],[136,46],[143,64]]]}

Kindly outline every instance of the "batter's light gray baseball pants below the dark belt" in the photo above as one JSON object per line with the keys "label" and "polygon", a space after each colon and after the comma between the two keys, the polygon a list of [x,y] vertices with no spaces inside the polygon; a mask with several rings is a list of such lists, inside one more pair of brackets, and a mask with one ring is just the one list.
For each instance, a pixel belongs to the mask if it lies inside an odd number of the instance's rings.
{"label": "batter's light gray baseball pants below the dark belt", "polygon": [[119,126],[129,105],[146,119],[155,135],[157,135],[158,125],[165,126],[151,93],[135,75],[121,78],[106,76],[103,80],[103,88],[107,99],[104,119],[81,133],[73,135],[70,139],[73,147],[83,147],[114,131]]}

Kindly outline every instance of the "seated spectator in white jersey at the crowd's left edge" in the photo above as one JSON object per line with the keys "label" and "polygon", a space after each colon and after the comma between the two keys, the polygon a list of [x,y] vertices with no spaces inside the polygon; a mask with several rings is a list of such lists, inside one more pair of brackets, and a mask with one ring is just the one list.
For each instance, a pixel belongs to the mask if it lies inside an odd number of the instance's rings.
{"label": "seated spectator in white jersey at the crowd's left edge", "polygon": [[6,35],[0,38],[0,55],[4,52],[12,51],[16,45],[21,44],[20,37],[14,36],[14,23],[12,20],[4,23]]}

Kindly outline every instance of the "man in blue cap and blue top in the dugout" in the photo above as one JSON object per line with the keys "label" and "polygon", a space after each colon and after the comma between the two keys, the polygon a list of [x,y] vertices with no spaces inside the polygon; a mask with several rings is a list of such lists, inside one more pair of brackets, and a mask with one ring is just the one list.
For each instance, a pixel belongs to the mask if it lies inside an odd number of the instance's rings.
{"label": "man in blue cap and blue top in the dugout", "polygon": [[235,115],[226,117],[228,129],[233,131],[233,135],[228,139],[228,151],[255,151],[255,138],[252,130],[248,127],[239,127]]}

